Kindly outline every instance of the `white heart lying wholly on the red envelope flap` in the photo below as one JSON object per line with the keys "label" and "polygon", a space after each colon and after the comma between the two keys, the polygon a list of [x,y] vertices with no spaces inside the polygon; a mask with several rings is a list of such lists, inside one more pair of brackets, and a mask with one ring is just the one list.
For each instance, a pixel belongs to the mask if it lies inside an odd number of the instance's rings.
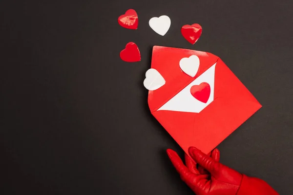
{"label": "white heart lying wholly on the red envelope flap", "polygon": [[183,72],[190,77],[194,77],[199,68],[199,58],[195,55],[192,55],[189,58],[183,58],[179,61],[179,66]]}

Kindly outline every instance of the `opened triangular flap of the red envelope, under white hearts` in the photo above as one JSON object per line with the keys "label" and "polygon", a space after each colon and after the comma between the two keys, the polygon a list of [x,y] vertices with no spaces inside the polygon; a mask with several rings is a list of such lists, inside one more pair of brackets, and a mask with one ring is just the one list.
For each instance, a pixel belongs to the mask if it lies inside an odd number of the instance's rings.
{"label": "opened triangular flap of the red envelope, under white hearts", "polygon": [[[192,55],[196,55],[200,60],[197,74],[194,77],[188,76],[179,66],[181,59],[189,58]],[[190,82],[208,70],[218,59],[217,56],[208,52],[154,46],[151,68],[156,69],[163,76],[166,83],[161,88],[148,92],[148,105],[150,111],[154,112],[159,109]]]}

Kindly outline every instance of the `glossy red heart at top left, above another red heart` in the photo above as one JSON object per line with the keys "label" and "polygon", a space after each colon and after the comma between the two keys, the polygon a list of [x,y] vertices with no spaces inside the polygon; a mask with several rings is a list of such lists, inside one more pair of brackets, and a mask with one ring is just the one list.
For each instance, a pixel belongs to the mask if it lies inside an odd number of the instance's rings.
{"label": "glossy red heart at top left, above another red heart", "polygon": [[124,15],[119,16],[118,23],[128,29],[137,29],[138,16],[134,9],[128,9]]}

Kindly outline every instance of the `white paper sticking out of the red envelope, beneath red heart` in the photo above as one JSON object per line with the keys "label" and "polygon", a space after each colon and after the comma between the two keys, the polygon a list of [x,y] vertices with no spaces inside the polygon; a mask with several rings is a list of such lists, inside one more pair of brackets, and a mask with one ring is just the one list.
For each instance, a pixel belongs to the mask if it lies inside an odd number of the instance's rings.
{"label": "white paper sticking out of the red envelope, beneath red heart", "polygon": [[[173,98],[167,101],[158,110],[171,110],[171,111],[199,113],[204,108],[206,108],[213,101],[213,98],[214,98],[215,67],[216,67],[216,63],[212,65],[206,72],[204,72],[198,78],[193,80],[188,86],[186,86]],[[209,86],[210,86],[210,96],[207,103],[197,100],[190,93],[190,88],[193,85],[199,85],[202,82],[207,82],[209,83]]]}

